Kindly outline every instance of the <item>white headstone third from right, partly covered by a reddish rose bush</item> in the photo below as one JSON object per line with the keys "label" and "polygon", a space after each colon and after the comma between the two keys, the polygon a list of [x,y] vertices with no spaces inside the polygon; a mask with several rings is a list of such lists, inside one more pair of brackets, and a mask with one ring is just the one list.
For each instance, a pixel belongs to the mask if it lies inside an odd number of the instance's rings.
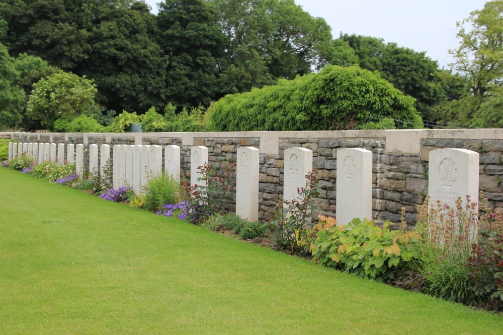
{"label": "white headstone third from right, partly covered by a reddish rose bush", "polygon": [[306,174],[313,168],[313,152],[306,148],[285,150],[283,199],[299,200],[297,188],[306,186]]}

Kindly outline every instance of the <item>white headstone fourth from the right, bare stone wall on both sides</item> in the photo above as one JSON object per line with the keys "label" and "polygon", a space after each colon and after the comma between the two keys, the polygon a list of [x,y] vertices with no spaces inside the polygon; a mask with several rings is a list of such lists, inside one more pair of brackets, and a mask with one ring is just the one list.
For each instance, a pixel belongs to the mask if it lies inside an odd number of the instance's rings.
{"label": "white headstone fourth from the right, bare stone wall on both sides", "polygon": [[236,215],[250,222],[259,219],[259,153],[254,147],[237,149]]}

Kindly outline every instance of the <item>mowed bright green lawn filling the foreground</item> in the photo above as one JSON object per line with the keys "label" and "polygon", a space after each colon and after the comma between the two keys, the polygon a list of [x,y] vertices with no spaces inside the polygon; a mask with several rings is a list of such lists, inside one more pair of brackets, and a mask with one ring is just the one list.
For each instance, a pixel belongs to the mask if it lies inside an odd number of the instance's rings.
{"label": "mowed bright green lawn filling the foreground", "polygon": [[503,317],[0,168],[0,334],[501,334]]}

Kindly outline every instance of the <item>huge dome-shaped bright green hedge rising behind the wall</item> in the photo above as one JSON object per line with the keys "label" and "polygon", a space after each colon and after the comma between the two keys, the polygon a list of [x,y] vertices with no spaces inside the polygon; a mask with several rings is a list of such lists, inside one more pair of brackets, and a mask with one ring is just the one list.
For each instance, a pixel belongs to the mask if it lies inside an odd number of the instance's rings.
{"label": "huge dome-shaped bright green hedge rising behind the wall", "polygon": [[[327,66],[317,74],[229,94],[213,104],[210,131],[355,129],[369,117],[422,128],[414,99],[359,67]],[[400,126],[400,125],[396,125]]]}

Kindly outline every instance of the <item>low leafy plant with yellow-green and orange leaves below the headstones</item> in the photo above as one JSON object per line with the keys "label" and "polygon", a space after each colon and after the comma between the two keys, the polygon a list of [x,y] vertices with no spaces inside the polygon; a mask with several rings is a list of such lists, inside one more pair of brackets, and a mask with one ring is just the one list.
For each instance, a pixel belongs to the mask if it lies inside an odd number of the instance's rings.
{"label": "low leafy plant with yellow-green and orange leaves below the headstones", "polygon": [[318,264],[387,280],[413,268],[423,247],[417,232],[390,231],[389,224],[386,221],[378,227],[374,221],[355,218],[344,227],[323,229],[317,234],[311,253]]}

